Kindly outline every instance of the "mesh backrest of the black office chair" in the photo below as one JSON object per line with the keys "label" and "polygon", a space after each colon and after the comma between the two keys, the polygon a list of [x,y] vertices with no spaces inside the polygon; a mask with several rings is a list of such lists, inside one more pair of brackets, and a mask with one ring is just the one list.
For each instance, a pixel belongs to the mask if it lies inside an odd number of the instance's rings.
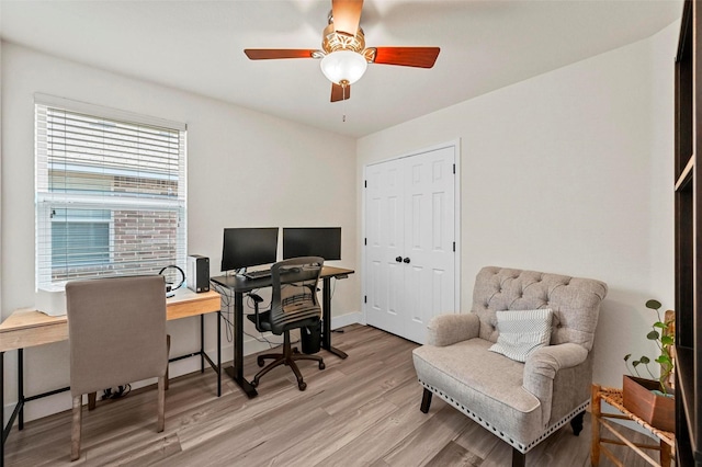
{"label": "mesh backrest of the black office chair", "polygon": [[317,299],[317,285],[324,265],[319,257],[291,258],[271,267],[273,292],[271,298],[271,328],[274,334],[286,329],[307,326],[321,316]]}

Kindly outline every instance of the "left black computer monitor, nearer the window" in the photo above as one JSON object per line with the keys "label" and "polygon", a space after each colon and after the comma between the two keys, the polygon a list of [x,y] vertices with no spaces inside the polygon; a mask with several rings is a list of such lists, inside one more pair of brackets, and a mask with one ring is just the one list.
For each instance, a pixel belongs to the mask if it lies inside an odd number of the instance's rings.
{"label": "left black computer monitor, nearer the window", "polygon": [[278,227],[224,229],[222,271],[274,263],[276,257]]}

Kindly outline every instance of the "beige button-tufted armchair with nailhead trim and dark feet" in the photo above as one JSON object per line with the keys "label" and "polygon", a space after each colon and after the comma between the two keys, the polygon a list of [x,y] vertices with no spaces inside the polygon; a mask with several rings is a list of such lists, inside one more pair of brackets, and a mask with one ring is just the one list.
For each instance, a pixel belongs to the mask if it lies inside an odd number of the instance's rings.
{"label": "beige button-tufted armchair with nailhead trim and dark feet", "polygon": [[[525,453],[567,422],[579,434],[605,295],[600,281],[484,267],[475,280],[472,312],[433,318],[427,345],[414,351],[424,388],[420,410],[427,413],[432,395],[439,396],[509,443],[512,466],[525,465]],[[546,309],[552,310],[546,345],[532,349],[523,363],[488,350],[500,341],[500,323],[506,330],[517,322],[500,317]],[[520,314],[498,314],[502,310]]]}

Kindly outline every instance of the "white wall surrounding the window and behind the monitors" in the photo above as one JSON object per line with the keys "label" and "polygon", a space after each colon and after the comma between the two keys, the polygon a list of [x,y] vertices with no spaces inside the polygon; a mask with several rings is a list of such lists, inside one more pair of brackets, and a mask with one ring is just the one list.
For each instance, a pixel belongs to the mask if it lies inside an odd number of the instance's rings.
{"label": "white wall surrounding the window and behind the monitors", "polygon": [[[188,251],[210,257],[211,274],[219,273],[223,228],[249,226],[341,226],[343,261],[331,263],[355,269],[352,138],[14,44],[2,43],[1,66],[3,317],[34,304],[35,92],[188,124]],[[335,322],[356,316],[351,314],[360,310],[359,295],[356,275],[339,282],[332,304]],[[247,330],[256,333],[248,324]],[[211,317],[206,334],[211,352],[215,349],[215,326]],[[196,349],[196,319],[170,322],[169,333],[173,354]],[[223,342],[226,358],[231,355],[231,344],[225,338]],[[259,349],[254,344],[247,338],[245,350]],[[15,354],[5,355],[7,402],[16,400]],[[29,395],[68,384],[66,342],[31,349],[25,355]],[[179,362],[171,365],[171,375],[194,371],[197,365],[197,358]],[[27,418],[69,407],[70,397],[65,392],[27,405]]]}

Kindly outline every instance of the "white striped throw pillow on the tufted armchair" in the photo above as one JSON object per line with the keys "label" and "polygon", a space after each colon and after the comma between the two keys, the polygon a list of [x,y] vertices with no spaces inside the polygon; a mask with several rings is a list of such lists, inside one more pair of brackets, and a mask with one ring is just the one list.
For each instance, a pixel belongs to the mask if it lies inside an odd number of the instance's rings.
{"label": "white striped throw pillow on the tufted armchair", "polygon": [[497,311],[497,343],[489,350],[501,353],[517,362],[525,362],[526,356],[551,341],[550,308],[539,310]]}

